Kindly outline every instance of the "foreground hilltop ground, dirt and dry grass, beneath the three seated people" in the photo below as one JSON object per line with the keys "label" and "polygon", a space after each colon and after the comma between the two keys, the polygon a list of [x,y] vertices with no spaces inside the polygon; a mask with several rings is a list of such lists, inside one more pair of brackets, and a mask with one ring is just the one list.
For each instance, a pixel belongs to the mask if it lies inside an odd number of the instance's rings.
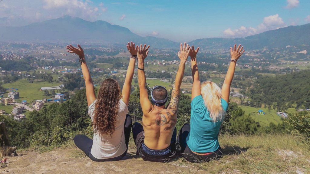
{"label": "foreground hilltop ground, dirt and dry grass, beneath the three seated people", "polygon": [[[135,155],[130,141],[125,160],[93,162],[68,141],[58,149],[33,147],[18,150],[21,157],[8,157],[4,169],[12,173],[177,173],[177,174],[243,174],[298,173],[310,171],[310,147],[294,135],[219,136],[224,157],[217,161],[193,164],[179,157],[169,163],[143,161]],[[42,153],[37,150],[53,150]],[[40,158],[38,158],[38,156]],[[56,159],[56,161],[55,161]],[[31,165],[29,165],[31,163]],[[1,170],[1,169],[0,169]]]}

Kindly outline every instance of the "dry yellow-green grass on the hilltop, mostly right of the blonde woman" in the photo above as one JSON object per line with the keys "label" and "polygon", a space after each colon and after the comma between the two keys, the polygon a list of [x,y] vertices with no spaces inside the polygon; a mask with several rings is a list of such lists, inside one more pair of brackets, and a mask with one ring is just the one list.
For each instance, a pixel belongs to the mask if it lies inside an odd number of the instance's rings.
{"label": "dry yellow-green grass on the hilltop, mostly right of the blonde woman", "polygon": [[[219,142],[224,154],[219,160],[193,164],[180,157],[172,160],[168,165],[188,167],[188,170],[181,172],[182,174],[201,173],[202,171],[210,174],[306,174],[310,171],[310,144],[297,135],[221,135]],[[52,150],[52,148],[33,150],[43,152]],[[73,141],[57,147],[57,149],[71,148],[76,148]],[[135,144],[131,138],[129,155],[135,156],[135,150]],[[84,152],[77,148],[70,155],[74,158],[86,158]]]}

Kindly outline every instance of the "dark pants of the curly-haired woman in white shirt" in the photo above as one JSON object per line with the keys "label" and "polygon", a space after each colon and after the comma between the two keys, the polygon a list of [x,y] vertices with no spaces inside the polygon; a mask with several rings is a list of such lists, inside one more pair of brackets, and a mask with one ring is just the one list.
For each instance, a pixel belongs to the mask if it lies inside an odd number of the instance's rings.
{"label": "dark pants of the curly-haired woman in white shirt", "polygon": [[[124,134],[125,134],[125,143],[127,146],[127,150],[128,150],[129,137],[131,133],[131,124],[132,124],[131,116],[127,114],[126,120],[124,123]],[[109,158],[109,159],[97,159],[93,157],[93,155],[91,154],[91,147],[93,146],[92,139],[88,138],[85,135],[76,135],[73,138],[73,140],[74,140],[75,145],[78,146],[78,148],[81,149],[83,152],[85,152],[86,156],[88,156],[91,160],[97,161],[97,162],[121,160],[127,153],[127,150],[126,150],[124,154],[118,157]]]}

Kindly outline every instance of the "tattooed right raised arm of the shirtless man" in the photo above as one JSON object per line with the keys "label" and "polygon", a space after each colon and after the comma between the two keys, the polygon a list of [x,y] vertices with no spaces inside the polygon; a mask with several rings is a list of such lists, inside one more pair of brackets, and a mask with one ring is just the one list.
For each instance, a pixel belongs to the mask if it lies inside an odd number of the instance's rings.
{"label": "tattooed right raised arm of the shirtless man", "polygon": [[190,52],[191,48],[188,47],[188,44],[184,43],[184,46],[182,47],[182,43],[180,44],[180,50],[178,53],[178,56],[180,58],[180,65],[178,72],[176,73],[175,76],[175,85],[172,89],[171,93],[171,100],[170,103],[167,107],[167,115],[170,118],[172,115],[176,115],[179,107],[179,98],[180,98],[180,88],[181,88],[181,83],[183,80],[183,75],[184,75],[184,69],[185,69],[185,63],[188,58],[188,54]]}

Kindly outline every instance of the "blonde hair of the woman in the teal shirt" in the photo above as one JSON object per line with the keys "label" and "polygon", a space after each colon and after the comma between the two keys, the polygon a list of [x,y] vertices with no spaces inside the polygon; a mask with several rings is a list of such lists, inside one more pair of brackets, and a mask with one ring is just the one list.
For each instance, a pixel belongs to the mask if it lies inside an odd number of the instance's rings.
{"label": "blonde hair of the woman in the teal shirt", "polygon": [[225,111],[221,104],[222,94],[218,85],[211,81],[201,84],[201,95],[213,122],[222,121]]}

